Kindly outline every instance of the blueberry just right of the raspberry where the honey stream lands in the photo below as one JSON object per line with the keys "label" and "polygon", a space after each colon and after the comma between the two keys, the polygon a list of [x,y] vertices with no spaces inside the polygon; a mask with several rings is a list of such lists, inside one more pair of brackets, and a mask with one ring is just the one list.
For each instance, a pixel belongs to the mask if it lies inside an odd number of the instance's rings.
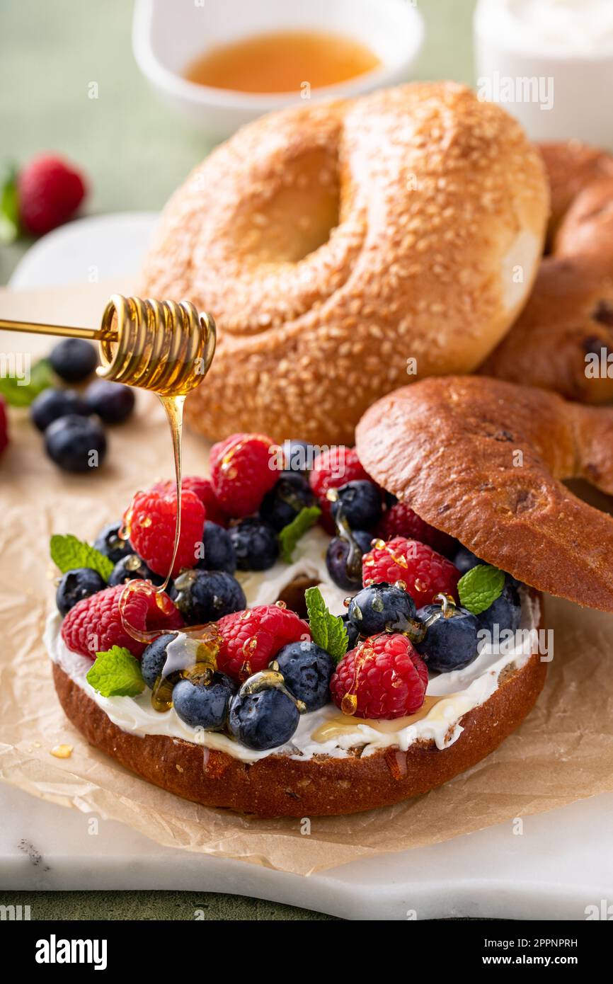
{"label": "blueberry just right of the raspberry where the honey stream lands", "polygon": [[225,571],[185,571],[175,578],[175,604],[187,625],[215,622],[247,607],[245,592]]}

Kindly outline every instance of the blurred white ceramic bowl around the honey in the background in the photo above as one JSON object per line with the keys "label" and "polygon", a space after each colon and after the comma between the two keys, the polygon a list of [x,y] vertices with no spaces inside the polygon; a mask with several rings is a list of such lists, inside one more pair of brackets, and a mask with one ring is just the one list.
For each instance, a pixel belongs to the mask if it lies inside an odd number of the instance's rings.
{"label": "blurred white ceramic bowl around the honey in the background", "polygon": [[423,41],[414,0],[136,0],[133,47],[137,63],[166,101],[215,137],[300,102],[296,93],[229,92],[187,82],[182,73],[208,48],[268,31],[330,31],[367,44],[381,67],[311,99],[357,95],[406,82]]}

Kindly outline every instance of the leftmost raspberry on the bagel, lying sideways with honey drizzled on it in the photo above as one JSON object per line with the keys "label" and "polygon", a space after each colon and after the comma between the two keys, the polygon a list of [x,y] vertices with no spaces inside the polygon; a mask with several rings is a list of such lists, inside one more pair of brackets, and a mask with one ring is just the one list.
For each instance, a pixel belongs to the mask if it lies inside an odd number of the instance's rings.
{"label": "leftmost raspberry on the bagel, lying sideways with honey drizzled on it", "polygon": [[139,657],[148,644],[133,639],[126,625],[136,633],[162,633],[183,627],[181,613],[167,594],[153,590],[146,582],[133,584],[139,586],[126,596],[123,620],[119,598],[126,588],[125,584],[105,587],[103,591],[78,601],[62,623],[62,639],[66,646],[92,659],[95,659],[96,652],[105,652],[111,646],[125,646]]}

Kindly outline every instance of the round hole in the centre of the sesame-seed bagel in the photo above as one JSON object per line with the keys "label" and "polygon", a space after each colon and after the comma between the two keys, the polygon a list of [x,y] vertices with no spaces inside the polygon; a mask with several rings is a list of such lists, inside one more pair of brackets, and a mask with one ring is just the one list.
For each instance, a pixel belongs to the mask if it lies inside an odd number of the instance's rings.
{"label": "round hole in the centre of the sesame-seed bagel", "polygon": [[328,242],[339,205],[336,154],[321,148],[296,154],[269,197],[250,203],[236,229],[241,248],[260,263],[298,263]]}

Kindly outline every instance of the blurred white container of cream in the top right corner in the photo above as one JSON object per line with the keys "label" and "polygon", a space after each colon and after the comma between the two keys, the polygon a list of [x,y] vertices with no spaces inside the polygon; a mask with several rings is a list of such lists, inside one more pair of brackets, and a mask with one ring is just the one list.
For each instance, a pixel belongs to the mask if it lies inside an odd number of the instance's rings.
{"label": "blurred white container of cream in the top right corner", "polygon": [[613,149],[613,0],[479,0],[476,89],[531,140]]}

